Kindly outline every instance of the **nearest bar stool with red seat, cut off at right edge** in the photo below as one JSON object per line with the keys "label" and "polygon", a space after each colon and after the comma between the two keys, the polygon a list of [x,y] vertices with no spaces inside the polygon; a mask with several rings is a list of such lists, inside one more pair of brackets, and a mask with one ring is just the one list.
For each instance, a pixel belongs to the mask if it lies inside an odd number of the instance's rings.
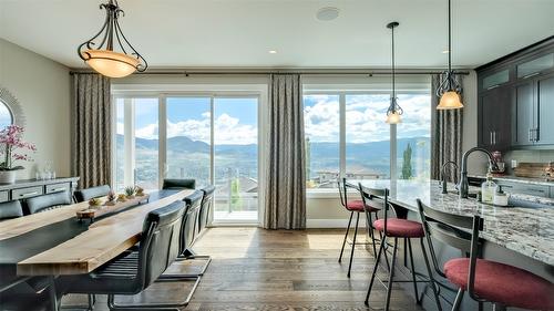
{"label": "nearest bar stool with red seat, cut off at right edge", "polygon": [[[479,234],[483,230],[483,218],[439,211],[419,199],[418,209],[434,270],[459,288],[452,310],[460,310],[464,292],[480,303],[492,302],[494,310],[507,307],[554,310],[554,284],[548,280],[513,266],[478,258],[482,247]],[[470,229],[471,235],[459,228]],[[470,253],[470,257],[451,259],[440,270],[431,238]]]}

